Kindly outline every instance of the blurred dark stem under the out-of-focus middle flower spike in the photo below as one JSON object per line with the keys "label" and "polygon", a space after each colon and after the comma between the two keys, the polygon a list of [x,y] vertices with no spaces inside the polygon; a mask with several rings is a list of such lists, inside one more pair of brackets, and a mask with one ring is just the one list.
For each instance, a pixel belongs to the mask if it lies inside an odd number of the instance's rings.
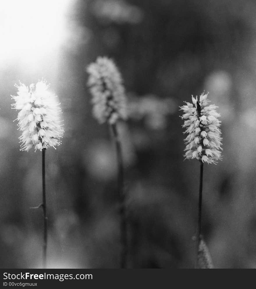
{"label": "blurred dark stem under the out-of-focus middle flower spike", "polygon": [[124,166],[122,160],[122,150],[116,124],[111,125],[113,136],[115,139],[117,161],[118,161],[118,193],[120,201],[120,218],[121,218],[121,268],[126,268],[127,259],[127,222],[125,211],[125,193],[124,193]]}

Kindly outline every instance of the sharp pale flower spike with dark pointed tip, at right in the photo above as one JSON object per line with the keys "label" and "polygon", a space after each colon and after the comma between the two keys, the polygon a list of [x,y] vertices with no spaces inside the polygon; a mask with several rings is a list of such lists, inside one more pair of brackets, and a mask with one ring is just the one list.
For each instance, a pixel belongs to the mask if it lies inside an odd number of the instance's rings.
{"label": "sharp pale flower spike with dark pointed tip, at right", "polygon": [[185,158],[196,158],[203,163],[214,163],[221,159],[221,115],[216,112],[216,105],[208,105],[208,93],[202,93],[199,101],[198,97],[192,96],[192,103],[180,107],[184,114],[184,133],[188,133],[185,138]]}

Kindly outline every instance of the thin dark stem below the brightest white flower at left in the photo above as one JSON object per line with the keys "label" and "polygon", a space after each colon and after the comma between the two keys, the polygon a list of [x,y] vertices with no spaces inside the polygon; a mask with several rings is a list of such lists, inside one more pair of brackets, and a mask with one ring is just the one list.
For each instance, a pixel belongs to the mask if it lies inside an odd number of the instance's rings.
{"label": "thin dark stem below the brightest white flower at left", "polygon": [[43,185],[43,212],[44,212],[44,244],[43,244],[43,268],[46,268],[47,251],[47,216],[46,216],[46,193],[45,193],[45,151],[42,149],[42,185]]}

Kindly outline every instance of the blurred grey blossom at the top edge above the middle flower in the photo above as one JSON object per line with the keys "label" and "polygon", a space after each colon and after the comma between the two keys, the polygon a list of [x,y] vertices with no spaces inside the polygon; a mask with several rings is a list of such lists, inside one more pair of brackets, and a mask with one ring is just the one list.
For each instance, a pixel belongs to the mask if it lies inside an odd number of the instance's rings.
{"label": "blurred grey blossom at the top edge above the middle flower", "polygon": [[143,19],[143,11],[122,0],[97,0],[92,6],[92,13],[107,22],[138,24]]}

